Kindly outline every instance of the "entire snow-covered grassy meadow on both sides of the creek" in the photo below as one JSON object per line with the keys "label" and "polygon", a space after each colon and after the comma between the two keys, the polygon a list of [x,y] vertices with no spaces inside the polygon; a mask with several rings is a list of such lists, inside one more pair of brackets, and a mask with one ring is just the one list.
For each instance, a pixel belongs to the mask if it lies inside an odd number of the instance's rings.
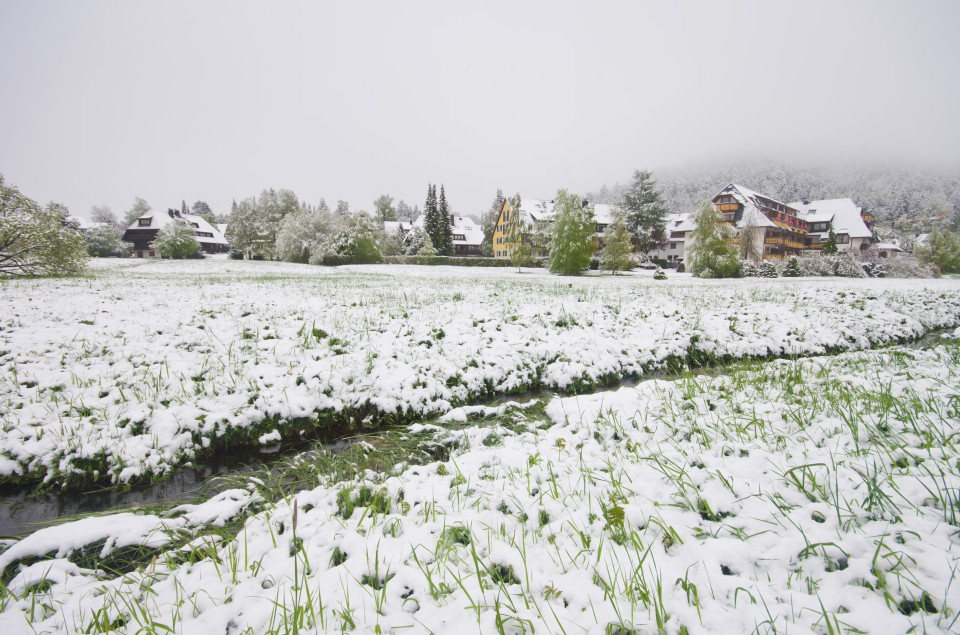
{"label": "entire snow-covered grassy meadow on both sides of the creek", "polygon": [[[2,632],[960,627],[960,281],[113,261],[0,285],[8,484],[328,429],[411,448],[41,529],[0,553]],[[587,394],[483,405],[531,388]]]}

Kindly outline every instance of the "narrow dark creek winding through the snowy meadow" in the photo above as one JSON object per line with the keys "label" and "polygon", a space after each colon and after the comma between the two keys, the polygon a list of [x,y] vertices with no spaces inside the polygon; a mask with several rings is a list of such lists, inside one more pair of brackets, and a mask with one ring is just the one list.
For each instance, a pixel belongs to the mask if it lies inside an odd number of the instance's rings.
{"label": "narrow dark creek winding through the snowy meadow", "polygon": [[[901,342],[891,346],[903,348],[929,348],[940,339],[940,332],[928,333],[915,341]],[[883,347],[881,347],[883,348]],[[722,374],[728,367],[691,368],[693,375]],[[646,375],[640,379],[627,379],[616,385],[598,390],[637,386],[654,380],[677,380],[680,372],[662,372]],[[536,390],[517,395],[500,395],[478,401],[476,405],[496,406],[506,402],[524,403],[533,399],[550,400],[556,396],[569,396],[551,390]],[[341,452],[362,436],[346,436],[337,439],[307,439],[300,442],[282,442],[273,446],[222,453],[203,465],[177,468],[172,474],[155,483],[118,491],[109,487],[90,491],[67,490],[36,494],[32,490],[17,488],[0,489],[0,538],[21,538],[37,529],[58,524],[72,517],[101,514],[112,511],[136,509],[145,506],[175,506],[196,503],[219,491],[237,487],[231,477],[242,477],[254,471],[271,469],[283,460],[298,455],[317,452]]]}

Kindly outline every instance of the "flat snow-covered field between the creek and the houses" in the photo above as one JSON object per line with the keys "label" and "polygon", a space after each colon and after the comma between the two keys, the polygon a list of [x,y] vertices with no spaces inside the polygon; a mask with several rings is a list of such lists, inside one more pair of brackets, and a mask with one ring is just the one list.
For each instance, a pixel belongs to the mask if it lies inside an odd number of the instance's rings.
{"label": "flat snow-covered field between the creek and the houses", "polygon": [[960,323],[957,280],[558,278],[99,261],[0,281],[0,477],[128,482],[205,451],[591,388],[678,360],[866,348]]}

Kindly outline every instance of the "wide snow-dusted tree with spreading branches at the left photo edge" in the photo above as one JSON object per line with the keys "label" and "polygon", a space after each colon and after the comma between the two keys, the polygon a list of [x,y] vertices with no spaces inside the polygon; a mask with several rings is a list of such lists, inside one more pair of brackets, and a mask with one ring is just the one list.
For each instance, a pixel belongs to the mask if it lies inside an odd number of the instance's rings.
{"label": "wide snow-dusted tree with spreading branches at the left photo edge", "polygon": [[67,208],[40,207],[0,174],[0,275],[77,274],[87,264],[83,236]]}

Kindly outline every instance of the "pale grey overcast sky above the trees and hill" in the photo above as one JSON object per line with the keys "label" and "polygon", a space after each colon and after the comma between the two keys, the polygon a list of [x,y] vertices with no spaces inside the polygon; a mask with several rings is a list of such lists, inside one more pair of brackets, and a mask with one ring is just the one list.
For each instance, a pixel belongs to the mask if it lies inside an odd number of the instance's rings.
{"label": "pale grey overcast sky above the trees and hill", "polygon": [[0,0],[0,24],[0,173],[77,216],[427,183],[476,214],[745,153],[960,165],[951,0]]}

